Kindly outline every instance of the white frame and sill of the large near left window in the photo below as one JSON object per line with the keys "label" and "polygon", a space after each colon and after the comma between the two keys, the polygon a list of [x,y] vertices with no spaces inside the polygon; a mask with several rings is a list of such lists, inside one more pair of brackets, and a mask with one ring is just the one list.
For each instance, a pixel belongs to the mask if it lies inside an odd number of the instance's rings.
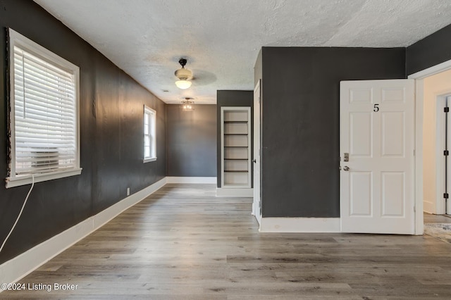
{"label": "white frame and sill of the large near left window", "polygon": [[[58,68],[68,70],[73,73],[75,83],[75,161],[74,167],[66,170],[55,170],[46,173],[35,174],[16,174],[16,118],[15,118],[15,70],[14,70],[14,47],[18,46],[23,51],[37,56],[47,63],[56,65]],[[80,68],[66,59],[61,58],[57,54],[54,54],[49,49],[33,42],[31,39],[20,35],[15,30],[8,28],[8,73],[9,80],[7,88],[8,90],[8,133],[11,135],[8,139],[8,177],[6,177],[6,188],[18,187],[21,185],[27,185],[31,182],[43,182],[47,180],[54,180],[63,177],[69,177],[74,175],[80,175],[82,168],[80,168]]]}

